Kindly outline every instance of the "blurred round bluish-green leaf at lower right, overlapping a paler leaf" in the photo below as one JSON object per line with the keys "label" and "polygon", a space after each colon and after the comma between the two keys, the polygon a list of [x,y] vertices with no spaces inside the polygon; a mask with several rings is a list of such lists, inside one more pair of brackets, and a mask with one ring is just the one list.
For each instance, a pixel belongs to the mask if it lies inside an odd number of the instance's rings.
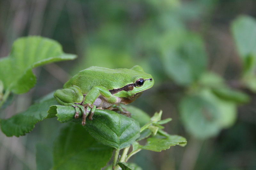
{"label": "blurred round bluish-green leaf at lower right, overlapping a paler leaf", "polygon": [[180,102],[180,113],[186,130],[197,138],[208,138],[216,135],[218,108],[201,96],[187,96]]}

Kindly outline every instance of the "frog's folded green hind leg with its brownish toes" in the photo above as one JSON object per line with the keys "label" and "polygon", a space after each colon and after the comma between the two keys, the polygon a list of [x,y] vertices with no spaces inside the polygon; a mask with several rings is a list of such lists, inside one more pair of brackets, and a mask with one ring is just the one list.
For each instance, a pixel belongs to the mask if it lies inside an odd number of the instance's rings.
{"label": "frog's folded green hind leg with its brownish toes", "polygon": [[83,101],[84,95],[81,89],[77,86],[72,86],[67,89],[56,90],[54,95],[58,103],[64,106],[73,106],[76,110],[75,118],[79,117],[79,109],[83,113],[83,125],[85,124],[86,111],[84,110]]}

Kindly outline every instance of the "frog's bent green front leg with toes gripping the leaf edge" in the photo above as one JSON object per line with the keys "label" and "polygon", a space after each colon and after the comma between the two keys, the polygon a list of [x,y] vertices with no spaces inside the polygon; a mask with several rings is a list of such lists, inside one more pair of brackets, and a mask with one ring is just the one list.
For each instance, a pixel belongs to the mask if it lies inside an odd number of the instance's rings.
{"label": "frog's bent green front leg with toes gripping the leaf edge", "polygon": [[91,111],[89,119],[92,120],[92,116],[94,114],[94,111],[96,110],[96,106],[93,105],[93,103],[95,102],[95,100],[99,97],[99,96],[103,96],[107,102],[109,103],[116,103],[117,102],[117,98],[116,96],[113,96],[108,89],[101,87],[101,86],[94,86],[85,96],[84,98],[84,105],[87,105],[89,107],[89,110]]}

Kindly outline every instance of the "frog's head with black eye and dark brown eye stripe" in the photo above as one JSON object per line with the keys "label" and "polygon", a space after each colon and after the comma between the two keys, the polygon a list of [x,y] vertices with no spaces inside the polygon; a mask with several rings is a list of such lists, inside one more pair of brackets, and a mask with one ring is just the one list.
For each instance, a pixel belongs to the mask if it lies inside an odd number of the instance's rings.
{"label": "frog's head with black eye and dark brown eye stripe", "polygon": [[139,96],[141,92],[154,85],[152,75],[145,73],[140,66],[134,66],[125,71],[128,71],[126,77],[129,77],[129,81],[127,81],[127,84],[122,88],[110,90],[115,96],[133,99],[135,96]]}

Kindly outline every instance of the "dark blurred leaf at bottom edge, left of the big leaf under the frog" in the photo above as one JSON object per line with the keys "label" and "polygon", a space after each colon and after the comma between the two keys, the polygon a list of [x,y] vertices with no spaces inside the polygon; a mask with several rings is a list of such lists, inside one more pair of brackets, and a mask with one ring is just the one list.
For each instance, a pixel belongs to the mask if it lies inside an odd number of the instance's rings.
{"label": "dark blurred leaf at bottom edge, left of the big leaf under the frog", "polygon": [[49,170],[53,165],[52,150],[44,144],[36,144],[36,170]]}

